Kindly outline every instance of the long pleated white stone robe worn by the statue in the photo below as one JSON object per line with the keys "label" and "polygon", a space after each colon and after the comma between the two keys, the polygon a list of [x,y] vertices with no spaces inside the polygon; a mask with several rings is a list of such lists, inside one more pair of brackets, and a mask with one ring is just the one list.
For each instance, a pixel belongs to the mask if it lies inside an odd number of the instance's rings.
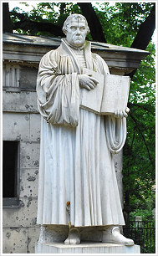
{"label": "long pleated white stone robe worn by the statue", "polygon": [[[107,64],[84,43],[88,69],[109,73]],[[125,143],[125,118],[79,109],[82,67],[65,39],[45,54],[38,69],[41,118],[38,182],[39,224],[75,227],[125,225],[112,153]],[[111,153],[112,152],[112,153]]]}

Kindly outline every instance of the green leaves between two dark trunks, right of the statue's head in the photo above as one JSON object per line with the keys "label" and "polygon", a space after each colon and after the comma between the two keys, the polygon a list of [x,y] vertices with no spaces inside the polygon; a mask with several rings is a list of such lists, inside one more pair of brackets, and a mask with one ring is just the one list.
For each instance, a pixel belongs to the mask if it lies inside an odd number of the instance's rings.
{"label": "green leaves between two dark trunks, right of the statue's head", "polygon": [[[112,6],[109,3],[102,3],[99,4],[99,7],[101,12],[98,8],[94,9],[99,16],[109,44],[131,47],[139,33],[140,26],[142,27],[148,21],[151,14],[155,21],[155,5],[152,3],[115,3]],[[152,28],[155,28],[154,24]],[[150,36],[152,33],[153,31],[150,31]],[[145,37],[147,38],[146,30]],[[142,40],[142,37],[140,39]],[[132,47],[142,49],[140,45]]]}

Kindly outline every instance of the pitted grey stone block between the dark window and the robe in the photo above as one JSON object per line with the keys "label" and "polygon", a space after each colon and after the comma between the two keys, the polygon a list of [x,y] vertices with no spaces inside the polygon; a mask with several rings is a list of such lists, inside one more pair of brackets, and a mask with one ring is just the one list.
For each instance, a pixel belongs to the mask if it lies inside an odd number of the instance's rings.
{"label": "pitted grey stone block between the dark window and the robe", "polygon": [[35,168],[39,166],[39,142],[20,142],[20,167]]}

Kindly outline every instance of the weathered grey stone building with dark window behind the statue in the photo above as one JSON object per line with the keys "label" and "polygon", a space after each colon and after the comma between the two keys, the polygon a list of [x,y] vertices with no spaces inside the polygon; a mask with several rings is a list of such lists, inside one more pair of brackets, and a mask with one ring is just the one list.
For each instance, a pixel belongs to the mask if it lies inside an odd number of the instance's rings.
{"label": "weathered grey stone building with dark window behind the statue", "polygon": [[[34,253],[40,115],[36,76],[43,54],[56,49],[60,38],[3,34],[3,253]],[[111,44],[92,44],[111,74],[130,74],[148,54]],[[122,152],[115,156],[115,171],[122,199]]]}

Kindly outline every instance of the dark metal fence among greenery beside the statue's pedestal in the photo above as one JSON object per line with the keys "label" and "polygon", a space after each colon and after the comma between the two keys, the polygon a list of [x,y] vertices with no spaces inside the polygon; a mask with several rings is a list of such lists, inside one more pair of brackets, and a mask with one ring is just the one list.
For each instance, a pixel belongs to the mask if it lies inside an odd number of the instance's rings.
{"label": "dark metal fence among greenery beside the statue's pedestal", "polygon": [[140,253],[155,253],[155,222],[130,221],[123,228],[126,238],[140,245]]}

